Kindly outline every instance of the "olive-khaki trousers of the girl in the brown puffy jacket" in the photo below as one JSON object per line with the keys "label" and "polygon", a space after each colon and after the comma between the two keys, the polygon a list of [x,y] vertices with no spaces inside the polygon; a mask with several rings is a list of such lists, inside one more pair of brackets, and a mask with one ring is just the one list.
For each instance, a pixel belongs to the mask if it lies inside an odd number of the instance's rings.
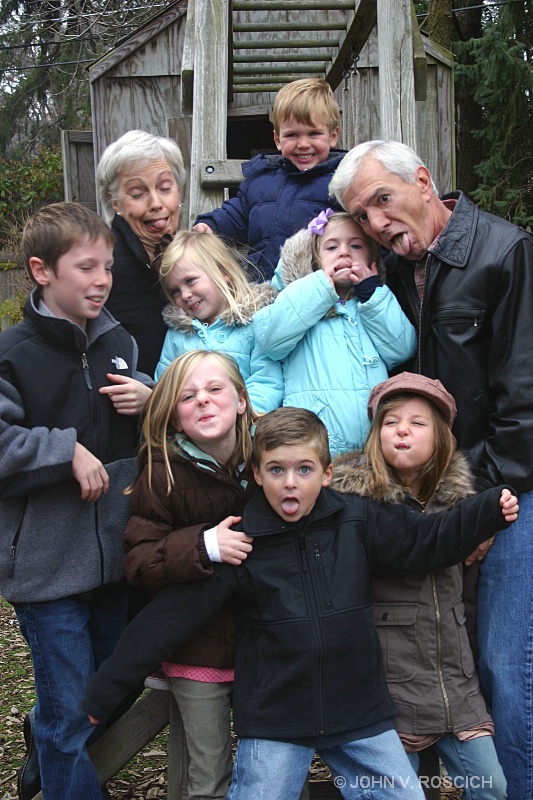
{"label": "olive-khaki trousers of the girl in the brown puffy jacket", "polygon": [[183,720],[189,753],[187,800],[224,800],[231,770],[233,683],[169,678]]}

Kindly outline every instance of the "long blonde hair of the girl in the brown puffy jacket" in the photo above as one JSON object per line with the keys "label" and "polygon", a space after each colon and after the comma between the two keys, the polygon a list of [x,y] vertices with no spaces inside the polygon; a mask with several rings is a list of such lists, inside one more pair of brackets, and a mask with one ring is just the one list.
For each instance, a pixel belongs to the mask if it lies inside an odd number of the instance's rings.
{"label": "long blonde hair of the girl in the brown puffy jacket", "polygon": [[[243,462],[250,466],[252,454],[250,427],[257,420],[257,414],[248,399],[244,378],[239,372],[237,364],[224,353],[212,350],[191,350],[176,358],[165,370],[156,384],[146,408],[143,444],[139,451],[139,473],[147,463],[150,488],[152,486],[152,458],[154,452],[158,451],[163,454],[165,463],[167,494],[170,494],[172,490],[174,478],[170,466],[169,440],[172,441],[174,434],[177,433],[176,403],[193,370],[206,360],[214,366],[220,367],[233,384],[239,397],[244,396],[246,399],[244,413],[237,415],[235,421],[237,441],[226,466],[233,469]],[[132,489],[133,486],[129,486],[126,494],[131,494]]]}

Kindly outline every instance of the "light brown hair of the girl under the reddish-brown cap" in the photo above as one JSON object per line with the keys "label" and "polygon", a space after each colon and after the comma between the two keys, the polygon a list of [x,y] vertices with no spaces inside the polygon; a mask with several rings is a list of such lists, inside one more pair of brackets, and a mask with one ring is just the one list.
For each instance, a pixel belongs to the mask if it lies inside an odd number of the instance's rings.
{"label": "light brown hair of the girl under the reddish-brown cap", "polygon": [[401,483],[399,476],[383,457],[381,429],[386,414],[407,400],[411,400],[413,396],[420,397],[421,400],[428,404],[435,425],[435,449],[433,455],[424,466],[421,476],[421,489],[418,496],[421,503],[427,503],[433,497],[455,452],[455,437],[444,418],[444,414],[437,408],[435,403],[416,393],[404,392],[394,395],[394,397],[389,397],[378,406],[363,448],[363,453],[366,455],[368,465],[371,468],[370,497],[373,500],[383,499],[383,496],[387,494],[393,483]]}

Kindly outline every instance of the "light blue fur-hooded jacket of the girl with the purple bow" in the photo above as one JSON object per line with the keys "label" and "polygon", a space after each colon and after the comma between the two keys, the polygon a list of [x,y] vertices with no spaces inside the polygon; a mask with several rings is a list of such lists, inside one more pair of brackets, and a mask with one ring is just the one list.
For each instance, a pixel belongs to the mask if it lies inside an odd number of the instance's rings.
{"label": "light blue fur-hooded jacket of the girl with the purple bow", "polygon": [[286,241],[272,283],[283,291],[255,314],[253,328],[264,352],[282,364],[283,405],[318,414],[332,455],[360,449],[370,391],[415,353],[413,326],[386,286],[366,303],[338,302],[324,272],[312,271],[305,230]]}

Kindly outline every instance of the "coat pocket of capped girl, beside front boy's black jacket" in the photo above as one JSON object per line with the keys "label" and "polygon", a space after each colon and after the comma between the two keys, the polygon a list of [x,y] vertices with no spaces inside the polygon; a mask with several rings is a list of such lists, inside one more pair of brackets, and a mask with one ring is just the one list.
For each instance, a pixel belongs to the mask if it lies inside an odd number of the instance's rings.
{"label": "coat pocket of capped girl, beside front boy's black jacket", "polygon": [[412,680],[417,666],[418,603],[374,603],[373,610],[387,681]]}

